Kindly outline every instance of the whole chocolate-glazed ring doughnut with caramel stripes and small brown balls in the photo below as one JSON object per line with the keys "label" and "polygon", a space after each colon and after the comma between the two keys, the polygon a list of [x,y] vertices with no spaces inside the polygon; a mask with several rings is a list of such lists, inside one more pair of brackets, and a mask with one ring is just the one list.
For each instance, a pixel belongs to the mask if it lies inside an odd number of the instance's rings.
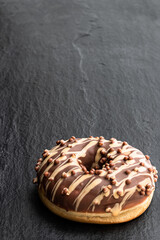
{"label": "whole chocolate-glazed ring doughnut with caramel stripes and small brown balls", "polygon": [[158,175],[149,156],[104,137],[59,140],[35,170],[39,196],[54,213],[87,223],[132,220],[149,206]]}

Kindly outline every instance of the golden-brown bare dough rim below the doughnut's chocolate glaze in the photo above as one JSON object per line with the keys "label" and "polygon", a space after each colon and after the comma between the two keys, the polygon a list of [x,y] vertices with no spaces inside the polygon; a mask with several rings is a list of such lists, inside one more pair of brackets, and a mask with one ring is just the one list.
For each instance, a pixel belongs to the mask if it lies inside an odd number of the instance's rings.
{"label": "golden-brown bare dough rim below the doughnut's chocolate glaze", "polygon": [[43,188],[38,189],[39,197],[43,204],[56,215],[69,219],[71,221],[82,223],[94,223],[94,224],[117,224],[131,221],[139,217],[149,207],[154,191],[147,197],[147,199],[141,204],[136,205],[133,208],[129,208],[121,211],[118,216],[112,216],[110,213],[83,213],[75,211],[66,211],[63,208],[56,206],[54,203],[48,200],[45,196]]}

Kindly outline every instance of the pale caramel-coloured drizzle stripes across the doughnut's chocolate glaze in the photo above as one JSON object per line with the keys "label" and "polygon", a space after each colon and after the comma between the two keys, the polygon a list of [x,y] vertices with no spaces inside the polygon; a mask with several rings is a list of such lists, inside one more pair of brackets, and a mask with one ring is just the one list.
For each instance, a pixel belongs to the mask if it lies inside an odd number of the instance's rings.
{"label": "pale caramel-coloured drizzle stripes across the doughnut's chocolate glaze", "polygon": [[[86,143],[86,146],[84,148],[82,148],[80,151],[69,151],[70,150],[70,147],[66,147],[66,146],[62,146],[60,147],[59,145],[54,147],[53,149],[51,149],[49,151],[49,156],[45,158],[45,160],[42,162],[39,170],[41,171],[42,167],[47,163],[48,159],[49,158],[53,158],[55,155],[57,155],[58,153],[62,153],[64,152],[65,153],[65,156],[60,156],[60,154],[55,158],[55,159],[58,159],[60,161],[60,164],[57,166],[57,168],[54,170],[54,172],[51,174],[51,177],[55,177],[58,173],[62,172],[63,170],[65,170],[68,166],[73,166],[74,168],[72,168],[71,170],[69,170],[67,172],[67,175],[68,177],[71,175],[71,171],[74,169],[76,172],[81,172],[83,173],[82,169],[80,168],[78,162],[77,162],[77,159],[78,157],[85,157],[86,156],[86,152],[87,150],[96,145],[97,142],[98,142],[98,139],[99,138],[92,138],[92,139],[86,139],[86,138],[82,138],[80,140],[78,140],[78,142],[76,143],[72,143],[72,146],[74,147],[75,145],[80,145],[82,143]],[[67,142],[67,141],[65,141]],[[104,142],[109,142],[108,140],[104,140]],[[120,141],[116,141],[115,143],[112,143],[112,144],[109,144],[109,148],[113,148],[113,147],[122,147],[122,142]],[[103,149],[102,148],[99,148],[97,150],[97,153],[96,153],[96,156],[95,156],[95,161],[93,163],[93,166],[97,166],[98,165],[98,162],[101,158],[101,154],[100,154],[100,151]],[[68,163],[68,157],[67,157],[67,154],[76,154],[75,157],[73,157],[73,162],[71,163]],[[129,155],[132,156],[133,158],[135,159],[141,159],[141,160],[145,160],[145,157],[144,155],[137,149],[131,147],[130,145],[125,145],[122,147],[122,153],[121,155],[117,155],[117,152],[116,151],[113,151],[111,153],[109,153],[108,155],[112,156],[114,159],[113,159],[113,162],[114,163],[118,163],[118,162],[121,162],[121,160],[124,158],[124,156],[126,155]],[[71,157],[70,157],[71,158]],[[54,159],[54,160],[55,160]],[[129,168],[130,166],[132,167],[136,167],[139,165],[139,162],[137,162],[136,160],[129,160],[129,161],[126,161],[127,165],[122,165],[121,167],[119,167],[117,170],[114,170],[113,173],[109,174],[110,177],[116,177],[116,175],[118,173],[120,173],[121,171],[123,171],[124,169],[126,170],[127,168]],[[49,164],[48,167],[45,168],[45,170],[43,171],[43,173],[41,173],[41,176],[40,176],[40,183],[43,181],[43,178],[44,178],[44,172],[45,171],[49,171],[52,166],[54,164],[54,161],[53,163]],[[147,161],[145,160],[145,166],[148,166],[150,167],[150,164],[147,163]],[[147,184],[147,183],[152,183],[153,186],[155,186],[154,184],[154,179],[153,179],[153,174],[149,174],[149,173],[143,173],[143,171],[146,171],[146,168],[145,167],[139,167],[138,166],[138,170],[140,173],[137,173],[137,172],[131,172],[130,176],[124,178],[122,181],[120,182],[117,182],[116,183],[116,189],[113,190],[113,194],[110,195],[111,191],[108,190],[107,193],[103,193],[101,192],[99,195],[97,195],[95,197],[95,199],[91,202],[91,204],[89,205],[88,209],[90,207],[92,207],[92,211],[94,211],[95,209],[95,205],[96,204],[100,204],[101,201],[103,200],[104,197],[114,197],[115,199],[119,198],[119,195],[117,194],[117,191],[122,191],[123,194],[123,199],[121,201],[121,203],[116,203],[114,205],[114,207],[111,209],[111,212],[112,214],[115,216],[116,214],[119,214],[119,212],[122,210],[122,207],[123,205],[125,205],[125,202],[135,193],[135,191],[137,190],[137,187],[131,187],[131,188],[127,188],[125,189],[124,191],[124,186],[125,186],[125,180],[126,179],[132,179],[133,177],[136,177],[136,176],[141,176],[141,175],[145,175],[145,176],[148,176],[148,178],[146,178],[144,181],[141,182],[141,184]],[[104,174],[106,175],[106,171],[102,171],[102,173],[99,175],[100,177],[104,176]],[[98,186],[102,180],[100,178],[97,178],[95,179],[95,177],[91,174],[86,174],[86,175],[80,175],[78,176],[71,184],[70,186],[68,187],[68,195],[71,194],[75,189],[76,187],[81,184],[82,182],[84,182],[85,180],[87,179],[90,179],[89,182],[87,183],[87,185],[81,190],[79,196],[75,199],[74,201],[74,204],[75,204],[75,211],[78,211],[78,207],[81,203],[81,201],[84,199],[84,197],[96,186]],[[61,183],[63,182],[63,178],[60,178],[56,183],[55,185],[53,186],[53,189],[52,189],[52,201],[54,201],[54,197],[56,195],[56,192],[58,190],[58,188],[60,187]],[[45,190],[47,191],[48,187],[49,187],[49,184],[50,184],[50,181],[48,180],[47,183],[46,183],[46,188]]]}

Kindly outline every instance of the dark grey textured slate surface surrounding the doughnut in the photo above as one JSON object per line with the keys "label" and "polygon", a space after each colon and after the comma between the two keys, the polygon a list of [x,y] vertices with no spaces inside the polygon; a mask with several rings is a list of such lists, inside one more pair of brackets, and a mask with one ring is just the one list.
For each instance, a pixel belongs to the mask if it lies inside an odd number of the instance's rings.
{"label": "dark grey textured slate surface surrounding the doughnut", "polygon": [[126,140],[160,170],[160,1],[0,0],[1,239],[160,239],[160,190],[138,219],[87,225],[40,202],[57,139]]}

